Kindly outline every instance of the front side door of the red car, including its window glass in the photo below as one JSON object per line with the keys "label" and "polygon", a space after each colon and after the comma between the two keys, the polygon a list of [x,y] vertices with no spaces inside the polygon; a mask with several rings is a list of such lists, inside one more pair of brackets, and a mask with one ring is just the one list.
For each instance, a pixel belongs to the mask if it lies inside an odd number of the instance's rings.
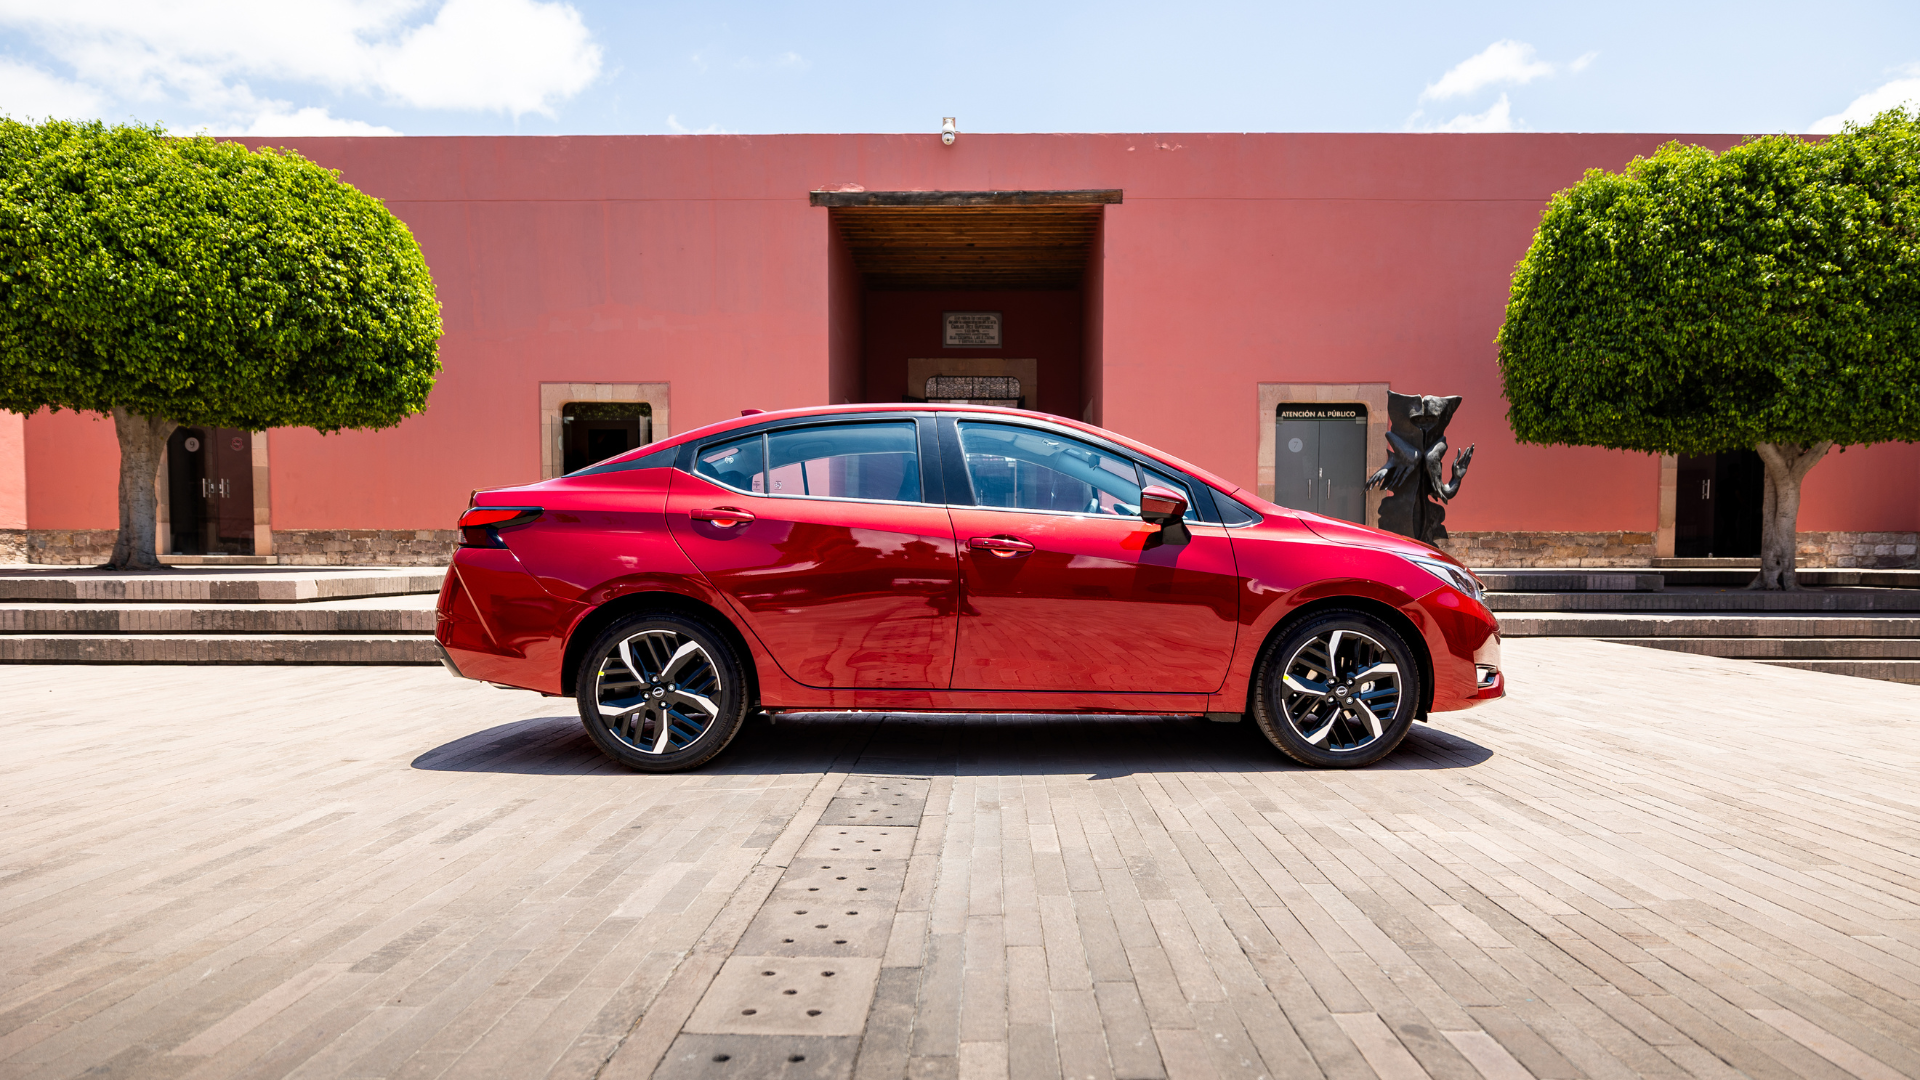
{"label": "front side door of the red car, including its window glass", "polygon": [[[1041,429],[958,423],[977,505],[950,509],[962,603],[954,690],[1208,694],[1233,653],[1227,530],[1188,511],[1148,546],[1140,486],[1188,482]],[[954,500],[958,502],[958,500]]]}

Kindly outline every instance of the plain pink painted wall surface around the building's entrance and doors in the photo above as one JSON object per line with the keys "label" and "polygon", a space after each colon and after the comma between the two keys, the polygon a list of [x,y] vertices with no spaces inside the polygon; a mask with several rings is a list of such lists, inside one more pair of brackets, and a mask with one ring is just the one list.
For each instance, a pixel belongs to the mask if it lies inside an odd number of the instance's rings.
{"label": "plain pink painted wall surface around the building's entrance and doors", "polygon": [[[1448,525],[1651,530],[1645,455],[1523,448],[1494,367],[1546,198],[1665,135],[966,135],[301,138],[388,200],[440,284],[445,373],[384,432],[273,434],[275,528],[445,527],[538,475],[541,380],[672,382],[676,430],[849,382],[812,188],[1123,188],[1083,344],[1102,423],[1254,482],[1258,382],[1465,394],[1476,442]],[[1686,136],[1728,146],[1734,136]],[[835,296],[839,286],[835,286]],[[1044,386],[1043,386],[1044,390]],[[1054,407],[1046,404],[1044,407]],[[1081,415],[1083,402],[1056,409]],[[35,528],[111,527],[113,436],[27,421]],[[1920,448],[1812,475],[1803,528],[1914,528]]]}

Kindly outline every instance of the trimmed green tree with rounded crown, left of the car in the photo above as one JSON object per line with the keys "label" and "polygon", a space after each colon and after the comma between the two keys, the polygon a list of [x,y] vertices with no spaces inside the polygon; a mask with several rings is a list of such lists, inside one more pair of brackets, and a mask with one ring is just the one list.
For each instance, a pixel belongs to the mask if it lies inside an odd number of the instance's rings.
{"label": "trimmed green tree with rounded crown, left of the car", "polygon": [[288,150],[0,119],[0,409],[109,413],[108,567],[150,569],[180,425],[392,427],[426,407],[440,304],[413,234]]}

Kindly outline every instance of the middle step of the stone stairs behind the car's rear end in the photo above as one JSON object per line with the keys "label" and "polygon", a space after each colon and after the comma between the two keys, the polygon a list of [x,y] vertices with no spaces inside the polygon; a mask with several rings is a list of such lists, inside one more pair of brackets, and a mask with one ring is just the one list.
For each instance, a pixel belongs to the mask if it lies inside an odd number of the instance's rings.
{"label": "middle step of the stone stairs behind the car's rear end", "polygon": [[309,603],[0,603],[0,634],[432,634],[432,594]]}

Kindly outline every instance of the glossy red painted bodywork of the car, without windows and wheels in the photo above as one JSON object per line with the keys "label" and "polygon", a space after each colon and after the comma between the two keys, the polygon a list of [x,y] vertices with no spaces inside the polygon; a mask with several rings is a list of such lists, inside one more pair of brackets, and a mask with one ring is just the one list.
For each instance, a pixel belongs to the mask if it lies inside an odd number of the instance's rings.
{"label": "glossy red painted bodywork of the car, without windows and wheels", "polygon": [[[1411,628],[1432,711],[1501,698],[1500,625],[1402,555],[1446,555],[1377,528],[1265,502],[1125,436],[979,405],[826,405],[755,413],[630,452],[862,411],[968,413],[1104,440],[1252,507],[1244,527],[1158,527],[1102,515],[745,494],[672,467],[588,473],[476,492],[541,507],[461,548],[436,640],[459,675],[559,694],[566,646],[611,603],[670,594],[724,617],[770,709],[1240,713],[1267,638],[1311,605],[1373,605]],[[620,461],[620,459],[614,459]],[[739,509],[732,528],[693,511]],[[970,540],[1018,538],[1002,557]],[[591,630],[597,632],[597,630]],[[1486,676],[1482,678],[1482,669]]]}

